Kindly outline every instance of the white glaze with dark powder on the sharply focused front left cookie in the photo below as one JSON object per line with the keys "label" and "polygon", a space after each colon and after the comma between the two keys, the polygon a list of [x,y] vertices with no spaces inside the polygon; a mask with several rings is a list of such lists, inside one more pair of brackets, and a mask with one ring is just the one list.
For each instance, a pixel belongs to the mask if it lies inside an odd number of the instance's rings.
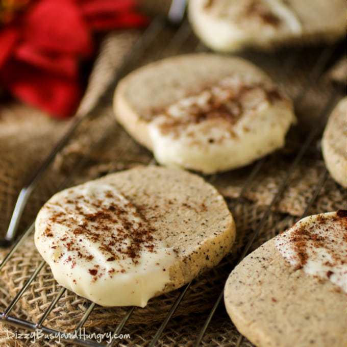
{"label": "white glaze with dark powder on the sharply focused front left cookie", "polygon": [[36,218],[35,244],[59,284],[102,306],[144,307],[176,259],[136,207],[100,182],[54,195]]}

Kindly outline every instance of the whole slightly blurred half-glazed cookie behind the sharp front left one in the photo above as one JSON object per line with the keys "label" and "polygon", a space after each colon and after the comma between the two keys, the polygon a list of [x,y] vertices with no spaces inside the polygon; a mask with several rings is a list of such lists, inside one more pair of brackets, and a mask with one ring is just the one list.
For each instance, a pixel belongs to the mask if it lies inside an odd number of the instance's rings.
{"label": "whole slightly blurred half-glazed cookie behind the sharp front left one", "polygon": [[284,145],[292,104],[240,58],[189,54],[120,81],[118,121],[160,164],[211,174],[251,163]]}

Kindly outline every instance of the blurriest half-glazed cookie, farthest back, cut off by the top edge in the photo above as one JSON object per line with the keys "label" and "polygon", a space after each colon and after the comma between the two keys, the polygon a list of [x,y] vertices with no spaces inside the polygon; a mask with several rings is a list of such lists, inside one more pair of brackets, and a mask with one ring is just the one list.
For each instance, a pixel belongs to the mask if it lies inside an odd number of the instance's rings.
{"label": "blurriest half-glazed cookie, farthest back, cut off by the top edge", "polygon": [[195,33],[216,51],[333,41],[345,35],[345,0],[190,0]]}

